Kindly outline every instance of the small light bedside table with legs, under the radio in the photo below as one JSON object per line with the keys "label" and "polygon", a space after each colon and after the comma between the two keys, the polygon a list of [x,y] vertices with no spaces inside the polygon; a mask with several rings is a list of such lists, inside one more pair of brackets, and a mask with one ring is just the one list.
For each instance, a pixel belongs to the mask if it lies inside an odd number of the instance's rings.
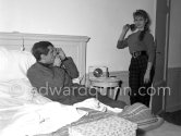
{"label": "small light bedside table with legs, under the radio", "polygon": [[98,77],[89,78],[90,87],[99,88],[101,95],[104,96],[113,96],[113,99],[118,99],[122,81],[117,77]]}

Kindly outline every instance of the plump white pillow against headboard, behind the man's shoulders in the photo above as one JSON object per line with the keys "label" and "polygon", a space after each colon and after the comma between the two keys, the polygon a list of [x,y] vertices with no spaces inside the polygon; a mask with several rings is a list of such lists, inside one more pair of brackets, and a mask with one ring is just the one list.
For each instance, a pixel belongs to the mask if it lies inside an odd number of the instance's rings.
{"label": "plump white pillow against headboard, behind the man's shoulders", "polygon": [[35,62],[31,52],[0,47],[0,81],[27,78],[26,72]]}

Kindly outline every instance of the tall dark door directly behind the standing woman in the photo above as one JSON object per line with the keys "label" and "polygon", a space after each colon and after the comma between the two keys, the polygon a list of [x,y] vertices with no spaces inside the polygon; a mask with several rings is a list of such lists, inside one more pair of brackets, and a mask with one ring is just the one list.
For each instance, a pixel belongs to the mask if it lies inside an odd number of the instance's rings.
{"label": "tall dark door directly behind the standing woman", "polygon": [[165,111],[168,40],[169,40],[169,11],[170,0],[157,0],[156,3],[155,42],[156,69],[153,82],[154,95],[152,96],[152,111],[156,114]]}

